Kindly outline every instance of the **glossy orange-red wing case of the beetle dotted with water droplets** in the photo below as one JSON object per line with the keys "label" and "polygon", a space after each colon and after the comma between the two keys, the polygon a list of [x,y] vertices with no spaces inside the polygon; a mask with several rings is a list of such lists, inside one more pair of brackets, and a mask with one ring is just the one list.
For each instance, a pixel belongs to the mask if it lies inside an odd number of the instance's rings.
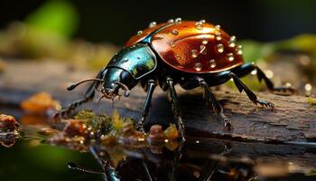
{"label": "glossy orange-red wing case of the beetle dotted with water droplets", "polygon": [[[150,34],[148,32],[149,29],[143,31]],[[235,36],[229,36],[218,25],[178,21],[157,24],[151,32],[153,50],[163,62],[179,71],[210,73],[226,71],[243,63],[241,46],[237,45]],[[131,40],[127,44],[131,44]]]}

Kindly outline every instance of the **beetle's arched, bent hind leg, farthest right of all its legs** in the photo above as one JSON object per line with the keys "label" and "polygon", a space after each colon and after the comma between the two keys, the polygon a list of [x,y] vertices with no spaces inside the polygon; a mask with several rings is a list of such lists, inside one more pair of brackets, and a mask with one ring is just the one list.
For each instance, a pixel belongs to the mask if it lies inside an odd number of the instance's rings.
{"label": "beetle's arched, bent hind leg, farthest right of all its legs", "polygon": [[291,94],[295,93],[296,90],[293,89],[292,87],[274,87],[274,83],[266,77],[265,72],[262,71],[254,62],[248,62],[245,63],[233,70],[233,72],[238,76],[238,77],[243,77],[246,74],[249,74],[251,71],[256,71],[256,76],[259,81],[264,80],[265,85],[270,91],[276,91],[276,92],[289,92]]}

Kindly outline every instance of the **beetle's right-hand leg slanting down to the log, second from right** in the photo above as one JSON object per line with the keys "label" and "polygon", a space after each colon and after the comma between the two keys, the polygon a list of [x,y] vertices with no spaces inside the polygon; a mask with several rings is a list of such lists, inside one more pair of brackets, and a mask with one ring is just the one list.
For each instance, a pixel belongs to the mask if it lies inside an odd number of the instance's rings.
{"label": "beetle's right-hand leg slanting down to the log, second from right", "polygon": [[248,96],[249,100],[253,101],[255,104],[259,103],[262,106],[265,106],[267,108],[271,108],[271,110],[274,110],[274,103],[265,101],[265,100],[258,100],[256,97],[256,94],[246,87],[245,83],[240,81],[240,79],[237,77],[237,75],[233,72],[229,72],[228,74],[229,78],[232,78],[235,82],[235,85],[239,92],[242,92],[242,90],[245,90],[246,95]]}

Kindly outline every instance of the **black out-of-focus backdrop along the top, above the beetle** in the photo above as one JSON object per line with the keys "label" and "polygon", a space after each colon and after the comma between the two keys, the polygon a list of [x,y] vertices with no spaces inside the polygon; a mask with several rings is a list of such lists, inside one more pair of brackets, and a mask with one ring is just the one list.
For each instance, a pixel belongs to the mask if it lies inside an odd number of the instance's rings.
{"label": "black out-of-focus backdrop along the top, above the beetle", "polygon": [[[51,1],[70,6],[72,24],[64,33],[71,37],[121,45],[149,22],[170,18],[221,24],[239,39],[275,41],[301,33],[316,33],[316,2],[301,1]],[[47,1],[1,1],[0,28],[27,18]],[[65,8],[60,8],[65,11]],[[43,13],[43,12],[42,12]],[[43,13],[44,14],[44,13]],[[48,24],[48,22],[46,22]]]}

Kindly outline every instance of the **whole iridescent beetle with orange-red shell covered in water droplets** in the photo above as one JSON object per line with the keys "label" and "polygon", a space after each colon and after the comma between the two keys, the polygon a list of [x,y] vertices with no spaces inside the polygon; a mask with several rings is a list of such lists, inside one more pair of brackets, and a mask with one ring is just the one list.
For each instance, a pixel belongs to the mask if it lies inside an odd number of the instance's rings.
{"label": "whole iridescent beetle with orange-red shell covered in water droplets", "polygon": [[269,90],[287,89],[274,88],[272,81],[254,63],[244,63],[242,53],[242,47],[237,45],[235,36],[229,36],[219,25],[207,24],[204,20],[193,22],[177,18],[164,24],[151,23],[149,28],[133,36],[95,79],[79,81],[68,87],[68,90],[73,90],[83,82],[93,81],[84,98],[73,102],[67,110],[61,111],[60,115],[92,100],[100,84],[102,98],[114,99],[120,89],[125,90],[127,97],[129,90],[140,82],[147,96],[137,128],[144,131],[144,121],[150,109],[153,90],[156,84],[159,84],[163,90],[170,91],[174,119],[184,139],[181,110],[174,89],[174,85],[179,83],[185,90],[202,87],[207,104],[217,113],[225,128],[230,129],[231,123],[209,87],[233,79],[238,90],[245,90],[252,102],[272,110],[274,104],[258,100],[256,94],[249,90],[239,77],[256,70],[259,81],[264,80]]}

